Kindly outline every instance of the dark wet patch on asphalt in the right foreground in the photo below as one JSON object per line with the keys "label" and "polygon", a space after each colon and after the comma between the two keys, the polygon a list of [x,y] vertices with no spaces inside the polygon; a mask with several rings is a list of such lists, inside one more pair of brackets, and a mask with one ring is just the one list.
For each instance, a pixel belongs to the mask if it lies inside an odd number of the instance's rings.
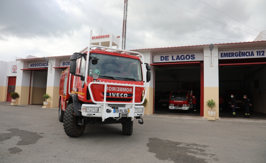
{"label": "dark wet patch on asphalt in the right foreground", "polygon": [[149,152],[155,153],[155,157],[160,160],[186,163],[206,163],[218,161],[214,154],[206,153],[205,145],[188,144],[162,140],[159,138],[149,138]]}

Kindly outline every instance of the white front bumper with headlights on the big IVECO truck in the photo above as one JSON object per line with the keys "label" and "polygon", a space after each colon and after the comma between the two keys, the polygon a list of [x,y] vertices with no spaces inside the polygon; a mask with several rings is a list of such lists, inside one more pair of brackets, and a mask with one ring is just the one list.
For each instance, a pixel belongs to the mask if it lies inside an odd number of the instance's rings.
{"label": "white front bumper with headlights on the big IVECO truck", "polygon": [[[116,113],[115,110],[121,111],[122,113]],[[144,115],[144,106],[136,105],[135,107],[118,107],[118,109],[113,109],[103,105],[91,105],[82,104],[81,114],[84,117],[101,117],[103,120],[109,117],[119,118],[119,117],[141,117]]]}

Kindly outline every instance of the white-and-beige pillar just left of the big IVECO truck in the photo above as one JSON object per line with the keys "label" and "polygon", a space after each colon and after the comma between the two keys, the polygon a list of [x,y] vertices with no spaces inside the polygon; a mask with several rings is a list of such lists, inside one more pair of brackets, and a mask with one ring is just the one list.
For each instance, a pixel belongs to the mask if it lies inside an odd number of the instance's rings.
{"label": "white-and-beige pillar just left of the big IVECO truck", "polygon": [[[53,68],[53,67],[59,67],[60,65],[59,59],[49,59],[49,62],[52,63],[52,67],[50,66],[51,63],[49,63],[48,73],[47,73],[46,93],[49,94],[51,97],[47,99],[47,102],[49,102],[50,108],[56,108],[58,107],[60,76],[61,76],[62,70]],[[51,68],[52,68],[52,72],[50,71]]]}

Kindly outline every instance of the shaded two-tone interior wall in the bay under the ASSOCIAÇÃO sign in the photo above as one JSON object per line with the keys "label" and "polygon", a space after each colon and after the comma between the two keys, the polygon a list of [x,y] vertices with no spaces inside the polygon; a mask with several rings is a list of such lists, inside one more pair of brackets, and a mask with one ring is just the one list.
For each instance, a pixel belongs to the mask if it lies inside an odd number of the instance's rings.
{"label": "shaded two-tone interior wall in the bay under the ASSOCIA\u00c7\u00c3O sign", "polygon": [[43,95],[46,94],[46,85],[47,71],[34,71],[31,104],[42,104],[45,101]]}

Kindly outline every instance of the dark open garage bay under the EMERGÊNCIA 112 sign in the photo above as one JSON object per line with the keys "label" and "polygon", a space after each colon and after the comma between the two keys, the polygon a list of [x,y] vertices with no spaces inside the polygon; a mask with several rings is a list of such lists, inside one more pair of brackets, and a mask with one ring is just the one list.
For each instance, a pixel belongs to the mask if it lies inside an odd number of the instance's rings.
{"label": "dark open garage bay under the EMERG\u00caNCIA 112 sign", "polygon": [[[220,117],[230,117],[231,94],[236,98],[236,117],[245,115],[243,95],[252,106],[250,116],[265,117],[266,113],[266,60],[265,58],[219,60]],[[220,97],[220,98],[221,98]]]}

